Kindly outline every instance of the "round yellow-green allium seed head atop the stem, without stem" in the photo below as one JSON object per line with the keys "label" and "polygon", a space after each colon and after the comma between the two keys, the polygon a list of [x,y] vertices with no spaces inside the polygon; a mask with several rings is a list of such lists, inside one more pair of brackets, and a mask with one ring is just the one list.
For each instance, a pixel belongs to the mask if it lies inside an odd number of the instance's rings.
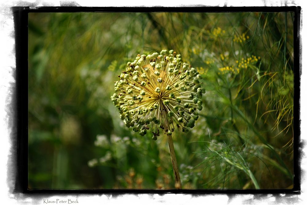
{"label": "round yellow-green allium seed head atop the stem, without stem", "polygon": [[111,100],[126,127],[142,136],[150,130],[156,140],[160,128],[171,135],[175,127],[188,132],[195,126],[203,108],[202,76],[174,50],[138,54],[118,77]]}

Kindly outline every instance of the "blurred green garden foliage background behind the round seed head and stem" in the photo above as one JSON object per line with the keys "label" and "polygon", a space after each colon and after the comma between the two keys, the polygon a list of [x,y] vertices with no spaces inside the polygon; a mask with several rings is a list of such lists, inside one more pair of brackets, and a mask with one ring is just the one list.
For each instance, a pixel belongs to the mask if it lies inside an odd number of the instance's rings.
{"label": "blurred green garden foliage background behind the round seed head and stem", "polygon": [[174,188],[166,137],[110,100],[128,61],[162,49],[206,89],[173,135],[183,188],[293,187],[293,13],[30,13],[30,189]]}

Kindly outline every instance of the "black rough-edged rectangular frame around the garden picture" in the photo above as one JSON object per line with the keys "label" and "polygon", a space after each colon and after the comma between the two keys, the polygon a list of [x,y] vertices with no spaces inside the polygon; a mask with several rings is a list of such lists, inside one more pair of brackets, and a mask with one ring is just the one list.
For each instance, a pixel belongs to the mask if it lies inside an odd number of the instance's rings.
{"label": "black rough-edged rectangular frame around the garden picture", "polygon": [[[198,6],[198,5],[195,5]],[[13,193],[82,193],[82,194],[123,194],[123,193],[185,193],[185,194],[278,194],[301,193],[302,157],[300,144],[300,81],[301,81],[301,7],[148,7],[146,12],[293,12],[294,13],[294,181],[292,189],[28,189],[28,14],[46,12],[144,12],[144,7],[12,7],[15,29],[16,53],[16,99],[17,107],[17,139],[13,139],[16,147],[17,170]],[[14,102],[13,102],[14,103]],[[12,160],[12,159],[11,159]],[[13,159],[14,160],[14,159]],[[14,167],[15,168],[15,167]]]}

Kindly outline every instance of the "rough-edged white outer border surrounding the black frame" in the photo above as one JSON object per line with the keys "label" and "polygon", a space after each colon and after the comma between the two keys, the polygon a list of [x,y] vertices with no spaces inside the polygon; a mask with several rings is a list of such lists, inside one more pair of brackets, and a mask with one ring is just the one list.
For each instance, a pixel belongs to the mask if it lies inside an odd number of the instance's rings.
{"label": "rough-edged white outer border surrounding the black frame", "polygon": [[[69,1],[66,1],[69,2]],[[175,0],[175,1],[90,1],[90,0],[76,0],[71,1],[73,4],[79,4],[80,6],[301,6],[302,7],[302,22],[306,20],[306,14],[304,14],[305,0],[296,1],[277,1],[277,0],[253,0],[253,1],[236,1],[236,0],[216,0],[216,1],[202,1],[202,0]],[[72,4],[72,5],[73,5]],[[11,6],[60,6],[60,1],[55,0],[29,0],[29,1],[9,1],[0,0],[0,203],[1,204],[44,204],[43,199],[49,200],[68,200],[76,201],[78,204],[305,204],[306,197],[306,165],[307,159],[306,153],[306,136],[307,136],[307,124],[306,113],[307,106],[305,106],[305,100],[307,92],[307,74],[306,74],[306,61],[302,58],[302,75],[301,75],[301,143],[303,144],[303,159],[301,160],[302,168],[302,194],[293,195],[292,199],[283,199],[285,195],[264,195],[257,197],[255,195],[235,195],[229,197],[226,194],[212,194],[212,195],[190,195],[190,194],[126,194],[119,196],[112,195],[45,195],[40,197],[30,197],[23,194],[9,193],[10,184],[13,182],[7,181],[7,164],[9,156],[11,155],[9,141],[12,132],[12,122],[8,119],[8,116],[12,114],[12,111],[8,107],[8,102],[14,101],[11,94],[11,86],[15,84],[15,52],[14,52],[14,22],[13,15],[10,12]],[[306,26],[302,25],[301,30],[302,43],[304,42],[304,36],[306,36]],[[304,48],[302,50],[302,56],[304,56]],[[4,167],[4,168],[2,168]]]}

